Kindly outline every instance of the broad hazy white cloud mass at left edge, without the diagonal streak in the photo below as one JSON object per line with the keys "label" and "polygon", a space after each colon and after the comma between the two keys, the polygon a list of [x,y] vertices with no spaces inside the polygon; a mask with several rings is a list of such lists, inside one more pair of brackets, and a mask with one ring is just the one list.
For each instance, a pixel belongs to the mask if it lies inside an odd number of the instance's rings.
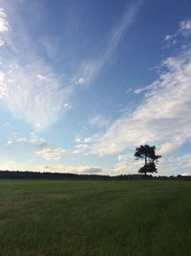
{"label": "broad hazy white cloud mass at left edge, without the diagonal streak", "polygon": [[[39,55],[38,49],[32,45],[25,23],[18,26],[14,22],[21,17],[11,16],[11,30],[8,31],[6,13],[2,9],[0,11],[0,32],[8,33],[9,46],[6,54],[2,52],[1,55],[1,105],[7,107],[14,117],[27,121],[34,128],[46,128],[69,108],[66,103],[73,91],[70,81],[61,80],[52,66]],[[4,41],[1,37],[0,43],[4,44]],[[53,108],[55,111],[51,111]]]}

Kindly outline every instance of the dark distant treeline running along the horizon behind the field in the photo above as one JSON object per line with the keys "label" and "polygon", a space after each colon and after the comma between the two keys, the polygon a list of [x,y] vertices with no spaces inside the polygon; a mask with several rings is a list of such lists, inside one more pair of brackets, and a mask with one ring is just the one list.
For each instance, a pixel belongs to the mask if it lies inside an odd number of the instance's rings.
{"label": "dark distant treeline running along the horizon behind the field", "polygon": [[[0,178],[11,179],[74,179],[74,180],[141,180],[144,175],[77,175],[63,173],[40,173],[31,171],[0,171]],[[190,180],[191,176],[152,176],[148,175],[147,179],[183,179]]]}

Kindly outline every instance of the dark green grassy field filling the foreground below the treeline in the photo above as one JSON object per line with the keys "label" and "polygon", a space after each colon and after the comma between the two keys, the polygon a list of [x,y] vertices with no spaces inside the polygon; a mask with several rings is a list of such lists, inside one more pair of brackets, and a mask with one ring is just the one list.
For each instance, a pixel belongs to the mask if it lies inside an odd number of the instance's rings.
{"label": "dark green grassy field filling the foreground below the treeline", "polygon": [[191,181],[0,180],[0,255],[191,255]]}

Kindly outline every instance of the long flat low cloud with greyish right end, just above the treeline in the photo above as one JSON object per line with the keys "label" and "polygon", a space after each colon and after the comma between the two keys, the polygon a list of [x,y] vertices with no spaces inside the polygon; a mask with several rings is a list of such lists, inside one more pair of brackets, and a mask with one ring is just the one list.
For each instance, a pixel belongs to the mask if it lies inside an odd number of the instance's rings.
{"label": "long flat low cloud with greyish right end, just above the treeline", "polygon": [[72,173],[72,174],[89,174],[89,175],[95,175],[95,174],[101,174],[102,169],[99,167],[94,166],[64,166],[64,165],[39,165],[37,166],[37,169],[44,171],[44,172],[54,172],[54,173]]}

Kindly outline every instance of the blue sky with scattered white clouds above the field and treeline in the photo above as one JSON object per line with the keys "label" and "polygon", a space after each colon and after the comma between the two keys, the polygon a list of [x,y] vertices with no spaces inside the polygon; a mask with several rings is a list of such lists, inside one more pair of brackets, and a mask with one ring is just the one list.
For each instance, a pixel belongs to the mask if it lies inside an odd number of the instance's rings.
{"label": "blue sky with scattered white clouds above the field and treeline", "polygon": [[190,0],[0,0],[0,170],[191,175]]}

